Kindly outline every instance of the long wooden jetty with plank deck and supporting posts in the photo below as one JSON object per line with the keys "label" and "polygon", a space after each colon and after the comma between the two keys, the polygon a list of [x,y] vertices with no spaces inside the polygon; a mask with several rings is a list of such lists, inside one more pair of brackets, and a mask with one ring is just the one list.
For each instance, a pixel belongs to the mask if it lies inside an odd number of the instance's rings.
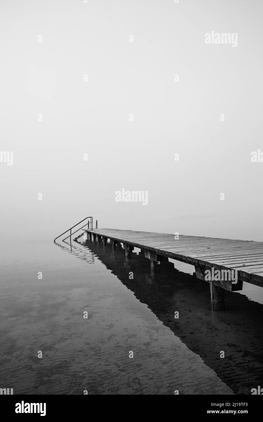
{"label": "long wooden jetty with plank deck and supporting posts", "polygon": [[[131,257],[134,247],[140,248],[151,262],[153,277],[157,262],[168,261],[168,258],[194,265],[196,277],[210,284],[211,301],[215,310],[225,307],[225,290],[242,290],[243,281],[263,287],[263,242],[185,235],[176,238],[167,233],[107,228],[82,230],[87,232],[88,236],[93,236],[95,241],[106,243],[109,239],[113,249],[117,243],[122,243],[127,259]],[[206,270],[236,270],[237,280],[216,280],[216,277],[214,280],[208,280]]]}

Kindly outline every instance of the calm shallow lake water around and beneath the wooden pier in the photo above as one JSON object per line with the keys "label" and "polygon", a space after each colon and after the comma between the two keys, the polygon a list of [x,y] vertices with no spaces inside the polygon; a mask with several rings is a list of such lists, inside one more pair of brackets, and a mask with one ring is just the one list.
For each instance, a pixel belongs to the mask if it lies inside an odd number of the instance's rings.
{"label": "calm shallow lake water around and beneath the wooden pier", "polygon": [[226,292],[227,310],[213,312],[209,286],[193,271],[161,262],[152,280],[139,249],[126,261],[121,246],[102,242],[73,242],[72,252],[67,243],[7,245],[0,387],[37,395],[251,394],[263,382],[262,289]]}

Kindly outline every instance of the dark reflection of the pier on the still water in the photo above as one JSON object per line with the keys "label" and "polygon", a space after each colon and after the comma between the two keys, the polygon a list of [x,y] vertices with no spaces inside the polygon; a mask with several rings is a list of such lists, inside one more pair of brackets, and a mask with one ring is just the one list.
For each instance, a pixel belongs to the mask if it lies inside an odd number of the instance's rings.
{"label": "dark reflection of the pier on the still water", "polygon": [[[120,244],[111,247],[90,237],[82,246],[92,251],[236,394],[251,394],[252,388],[262,384],[262,305],[226,291],[226,311],[214,312],[206,282],[196,279],[195,274],[177,271],[172,262],[160,262],[152,278],[149,260],[142,252],[132,252],[130,259]],[[220,358],[222,351],[224,358]]]}

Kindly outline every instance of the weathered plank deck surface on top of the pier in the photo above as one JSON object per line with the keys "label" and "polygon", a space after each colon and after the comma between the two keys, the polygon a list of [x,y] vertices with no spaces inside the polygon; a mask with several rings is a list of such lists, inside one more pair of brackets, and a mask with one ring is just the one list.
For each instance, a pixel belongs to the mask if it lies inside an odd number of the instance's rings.
{"label": "weathered plank deck surface on top of the pier", "polygon": [[239,280],[263,287],[263,242],[184,235],[175,239],[172,234],[117,229],[85,231],[191,265],[237,270]]}

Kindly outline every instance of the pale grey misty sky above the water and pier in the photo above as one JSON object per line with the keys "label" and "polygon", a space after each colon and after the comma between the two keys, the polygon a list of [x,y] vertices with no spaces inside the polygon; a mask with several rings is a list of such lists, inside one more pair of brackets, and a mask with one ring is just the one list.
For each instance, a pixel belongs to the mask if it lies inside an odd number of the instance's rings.
{"label": "pale grey misty sky above the water and pier", "polygon": [[[0,151],[14,152],[0,163],[1,236],[52,241],[92,215],[99,227],[263,241],[263,162],[250,160],[263,151],[262,11],[256,0],[1,0]],[[205,44],[211,31],[238,45]],[[122,188],[148,191],[148,205],[116,202]]]}

